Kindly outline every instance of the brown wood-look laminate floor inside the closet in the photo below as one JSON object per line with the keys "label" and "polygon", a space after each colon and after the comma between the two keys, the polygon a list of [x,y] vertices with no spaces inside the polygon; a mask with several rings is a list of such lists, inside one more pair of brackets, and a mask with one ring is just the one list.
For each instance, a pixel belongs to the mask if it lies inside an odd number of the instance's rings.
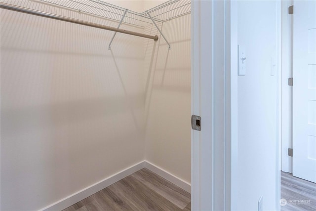
{"label": "brown wood-look laminate floor inside the closet", "polygon": [[141,169],[64,211],[191,211],[191,194]]}

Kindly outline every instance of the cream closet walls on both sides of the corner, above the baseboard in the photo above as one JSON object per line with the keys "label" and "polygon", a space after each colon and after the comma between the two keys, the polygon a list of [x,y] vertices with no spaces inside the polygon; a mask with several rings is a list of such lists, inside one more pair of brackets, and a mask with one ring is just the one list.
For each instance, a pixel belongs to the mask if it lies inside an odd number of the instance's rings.
{"label": "cream closet walls on both sides of the corner, above the baseboard", "polygon": [[170,51],[119,33],[109,51],[113,32],[4,9],[0,24],[1,210],[41,209],[145,159],[190,183],[190,15],[164,24]]}

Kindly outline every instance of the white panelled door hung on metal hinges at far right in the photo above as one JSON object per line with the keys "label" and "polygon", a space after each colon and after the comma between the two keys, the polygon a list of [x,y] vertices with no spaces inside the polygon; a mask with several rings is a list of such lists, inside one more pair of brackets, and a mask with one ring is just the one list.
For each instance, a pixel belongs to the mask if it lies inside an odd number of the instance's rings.
{"label": "white panelled door hung on metal hinges at far right", "polygon": [[316,1],[294,1],[293,175],[316,182]]}

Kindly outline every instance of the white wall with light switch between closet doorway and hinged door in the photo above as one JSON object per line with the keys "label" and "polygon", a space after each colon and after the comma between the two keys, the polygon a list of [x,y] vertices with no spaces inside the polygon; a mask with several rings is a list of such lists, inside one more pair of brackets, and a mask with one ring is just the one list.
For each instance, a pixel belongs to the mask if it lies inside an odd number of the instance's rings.
{"label": "white wall with light switch between closet doorway and hinged door", "polygon": [[238,1],[238,44],[246,50],[246,75],[238,77],[237,161],[232,210],[276,210],[277,193],[277,1]]}

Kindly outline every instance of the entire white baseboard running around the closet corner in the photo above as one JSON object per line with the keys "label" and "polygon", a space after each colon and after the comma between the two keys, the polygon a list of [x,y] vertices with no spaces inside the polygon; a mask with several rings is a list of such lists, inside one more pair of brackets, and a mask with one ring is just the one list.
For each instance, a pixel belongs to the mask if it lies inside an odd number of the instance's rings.
{"label": "entire white baseboard running around the closet corner", "polygon": [[191,184],[174,176],[173,174],[169,173],[168,171],[161,169],[154,164],[151,164],[148,161],[142,161],[138,164],[135,164],[127,169],[124,169],[112,176],[109,176],[108,178],[105,178],[93,185],[90,185],[64,199],[59,200],[58,202],[55,202],[51,205],[48,205],[47,207],[40,209],[40,211],[61,211],[64,210],[77,202],[81,201],[82,199],[85,199],[92,194],[95,194],[96,192],[116,183],[117,181],[125,178],[126,176],[135,173],[136,171],[147,168],[154,173],[157,173],[162,178],[168,180],[169,182],[179,186],[183,190],[191,193]]}

